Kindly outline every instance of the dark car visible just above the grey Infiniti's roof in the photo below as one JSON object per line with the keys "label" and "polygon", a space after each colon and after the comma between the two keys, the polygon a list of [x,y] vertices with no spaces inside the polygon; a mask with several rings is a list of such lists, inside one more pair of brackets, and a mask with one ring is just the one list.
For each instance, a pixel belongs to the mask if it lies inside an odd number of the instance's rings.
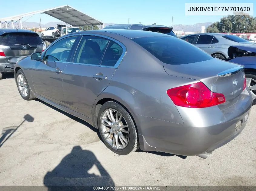
{"label": "dark car visible just above the grey Infiniti's roof", "polygon": [[167,27],[164,25],[144,25],[144,24],[113,24],[109,25],[103,29],[128,29],[128,30],[146,30],[158,33],[168,34],[174,37],[177,37],[175,33],[172,31],[172,27]]}

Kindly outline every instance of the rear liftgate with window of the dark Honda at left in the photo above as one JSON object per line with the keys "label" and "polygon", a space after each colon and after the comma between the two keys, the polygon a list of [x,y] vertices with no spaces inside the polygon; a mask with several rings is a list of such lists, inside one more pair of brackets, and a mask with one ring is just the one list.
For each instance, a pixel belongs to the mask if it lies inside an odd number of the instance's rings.
{"label": "rear liftgate with window of the dark Honda at left", "polygon": [[42,52],[43,41],[36,33],[15,32],[0,36],[0,49],[10,64],[15,64],[22,57],[35,52]]}

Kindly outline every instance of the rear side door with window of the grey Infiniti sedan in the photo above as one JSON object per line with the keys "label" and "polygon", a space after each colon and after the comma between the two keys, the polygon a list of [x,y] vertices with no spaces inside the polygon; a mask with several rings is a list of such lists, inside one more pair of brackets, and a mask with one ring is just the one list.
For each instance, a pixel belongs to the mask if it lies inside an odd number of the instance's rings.
{"label": "rear side door with window of the grey Infiniti sedan", "polygon": [[83,36],[63,73],[64,97],[71,110],[91,118],[94,101],[108,87],[124,53],[124,46],[113,39]]}

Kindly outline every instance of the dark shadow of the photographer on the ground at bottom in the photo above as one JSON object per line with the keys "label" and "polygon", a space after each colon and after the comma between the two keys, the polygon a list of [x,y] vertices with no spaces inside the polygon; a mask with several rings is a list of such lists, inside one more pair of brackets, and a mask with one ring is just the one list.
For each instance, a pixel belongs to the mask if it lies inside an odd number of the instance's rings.
{"label": "dark shadow of the photographer on the ground at bottom", "polygon": [[87,190],[79,186],[115,186],[95,154],[82,150],[80,146],[74,146],[58,166],[48,171],[43,182],[48,191],[56,190],[53,186],[64,186],[58,190]]}

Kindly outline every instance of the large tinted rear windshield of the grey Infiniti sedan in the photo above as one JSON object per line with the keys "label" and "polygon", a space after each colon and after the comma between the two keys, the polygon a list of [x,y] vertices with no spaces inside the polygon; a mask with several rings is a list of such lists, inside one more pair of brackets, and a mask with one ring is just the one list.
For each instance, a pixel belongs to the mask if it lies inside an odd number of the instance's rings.
{"label": "large tinted rear windshield of the grey Infiniti sedan", "polygon": [[214,59],[196,46],[174,37],[131,39],[166,64],[188,64]]}

